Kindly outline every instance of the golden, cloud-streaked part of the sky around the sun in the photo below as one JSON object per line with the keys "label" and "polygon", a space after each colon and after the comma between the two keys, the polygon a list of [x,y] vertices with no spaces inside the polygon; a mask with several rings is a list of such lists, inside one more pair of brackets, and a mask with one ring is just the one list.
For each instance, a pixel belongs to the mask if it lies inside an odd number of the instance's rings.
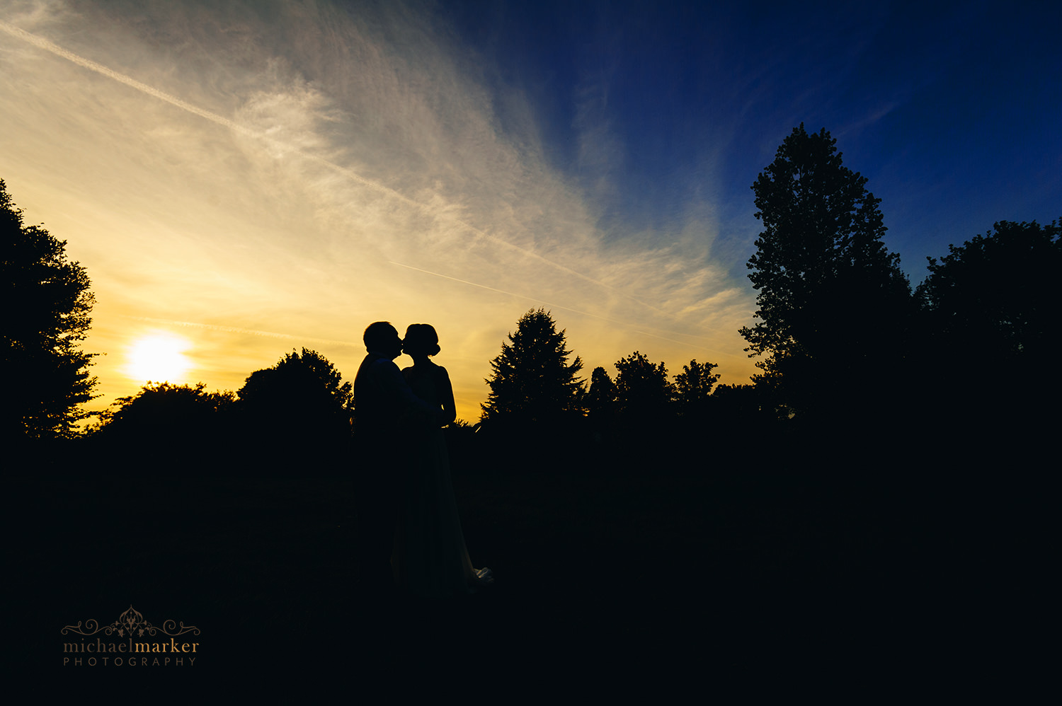
{"label": "golden, cloud-streaked part of the sky around the sun", "polygon": [[[235,391],[302,347],[353,381],[386,320],[434,325],[475,421],[490,360],[538,307],[587,379],[634,350],[672,374],[755,372],[737,333],[754,292],[731,274],[748,253],[714,251],[712,205],[684,203],[665,231],[604,229],[585,179],[551,167],[535,106],[445,25],[140,4],[0,7],[0,178],[92,280],[96,409],[159,371]],[[600,130],[580,135],[583,163],[610,154]]]}

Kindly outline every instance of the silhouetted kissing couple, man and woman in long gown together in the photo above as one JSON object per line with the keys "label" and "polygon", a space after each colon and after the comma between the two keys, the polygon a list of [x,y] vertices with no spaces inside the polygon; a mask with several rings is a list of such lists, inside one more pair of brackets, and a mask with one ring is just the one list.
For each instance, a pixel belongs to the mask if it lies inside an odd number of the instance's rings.
{"label": "silhouetted kissing couple, man and woman in long gown together", "polygon": [[[413,324],[402,341],[376,322],[364,342],[369,355],[354,380],[362,581],[384,593],[392,581],[424,598],[468,593],[492,579],[468,559],[453,499],[442,427],[457,410],[446,368],[430,360],[439,337]],[[399,372],[394,359],[402,352],[413,365]]]}

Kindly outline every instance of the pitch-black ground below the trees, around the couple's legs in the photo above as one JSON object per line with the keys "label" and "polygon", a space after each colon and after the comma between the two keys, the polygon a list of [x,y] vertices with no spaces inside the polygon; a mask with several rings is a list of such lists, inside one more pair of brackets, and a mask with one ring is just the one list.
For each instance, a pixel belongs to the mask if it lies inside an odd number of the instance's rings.
{"label": "pitch-black ground below the trees, around the couple's legs", "polygon": [[[1050,565],[1032,549],[1047,536],[1028,480],[1042,461],[923,450],[915,462],[908,449],[855,463],[783,446],[755,467],[737,454],[589,449],[565,464],[459,450],[466,544],[497,583],[445,603],[361,590],[353,468],[25,465],[8,480],[8,640],[24,645],[10,664],[40,693],[445,685],[492,701],[528,685],[871,695],[924,678],[944,694],[1003,679],[1016,653],[1011,688],[1038,673],[1023,636],[1044,620],[1032,606]],[[108,624],[131,604],[156,625],[200,627],[195,665],[64,667],[76,636],[63,626]]]}

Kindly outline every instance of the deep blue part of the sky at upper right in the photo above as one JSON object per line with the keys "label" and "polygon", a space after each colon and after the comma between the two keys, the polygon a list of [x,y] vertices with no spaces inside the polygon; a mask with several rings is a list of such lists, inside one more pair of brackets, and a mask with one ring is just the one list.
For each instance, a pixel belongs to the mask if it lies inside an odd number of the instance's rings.
{"label": "deep blue part of the sky at upper right", "polygon": [[667,230],[699,194],[721,237],[746,237],[750,186],[801,122],[870,179],[912,285],[927,255],[995,221],[1062,216],[1058,3],[725,4],[441,14],[495,81],[527,92],[552,166],[590,192],[600,165],[581,161],[579,132],[607,125],[621,155],[598,194],[606,230]]}

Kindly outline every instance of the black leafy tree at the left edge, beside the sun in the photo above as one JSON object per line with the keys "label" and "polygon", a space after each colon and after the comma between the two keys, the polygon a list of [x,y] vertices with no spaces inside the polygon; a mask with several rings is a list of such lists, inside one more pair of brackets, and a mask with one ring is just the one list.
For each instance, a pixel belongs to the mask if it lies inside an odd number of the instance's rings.
{"label": "black leafy tree at the left edge, beside the sun", "polygon": [[86,369],[95,354],[87,335],[95,298],[85,269],[70,262],[66,241],[22,224],[0,179],[0,257],[7,288],[3,325],[5,435],[68,437],[89,416],[79,406],[92,399],[96,378]]}

